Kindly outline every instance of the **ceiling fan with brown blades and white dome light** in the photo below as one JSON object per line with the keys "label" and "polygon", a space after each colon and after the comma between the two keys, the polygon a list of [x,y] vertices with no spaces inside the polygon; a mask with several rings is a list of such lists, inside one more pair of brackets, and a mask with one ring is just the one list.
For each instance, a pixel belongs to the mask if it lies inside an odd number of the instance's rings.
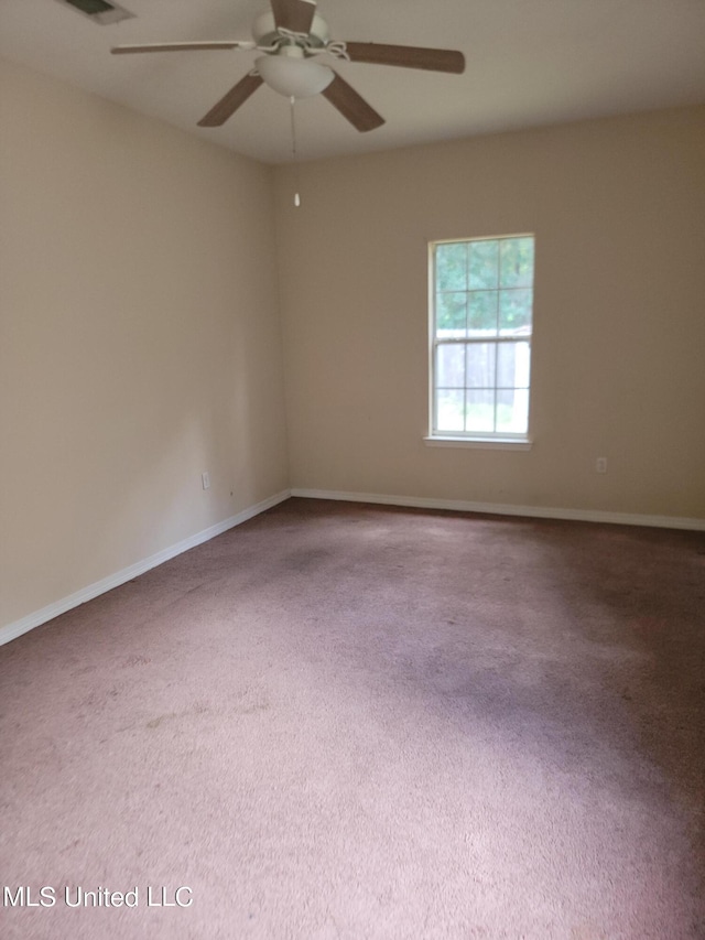
{"label": "ceiling fan with brown blades and white dome light", "polygon": [[323,95],[357,130],[368,131],[384,123],[378,112],[341,76],[316,60],[334,60],[375,65],[395,65],[448,72],[465,71],[465,56],[454,50],[383,45],[369,42],[339,42],[329,37],[328,26],[316,12],[315,0],[270,0],[271,11],[252,24],[252,41],[172,42],[118,45],[116,55],[182,50],[257,50],[262,53],[254,67],[198,121],[199,127],[220,127],[263,83],[289,98]]}

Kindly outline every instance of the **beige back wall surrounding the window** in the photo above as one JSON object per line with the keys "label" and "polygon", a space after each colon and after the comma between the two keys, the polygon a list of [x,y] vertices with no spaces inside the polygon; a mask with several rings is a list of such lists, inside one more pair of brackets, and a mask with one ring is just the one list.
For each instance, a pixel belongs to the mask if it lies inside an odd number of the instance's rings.
{"label": "beige back wall surrounding the window", "polygon": [[[705,518],[705,108],[300,173],[299,209],[275,174],[292,487]],[[427,241],[529,231],[534,446],[427,447]]]}

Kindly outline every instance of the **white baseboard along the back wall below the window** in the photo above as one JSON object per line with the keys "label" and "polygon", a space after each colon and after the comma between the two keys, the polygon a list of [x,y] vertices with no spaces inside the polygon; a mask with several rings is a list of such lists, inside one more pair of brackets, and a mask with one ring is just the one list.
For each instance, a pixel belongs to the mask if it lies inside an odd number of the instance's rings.
{"label": "white baseboard along the back wall below the window", "polygon": [[538,519],[568,519],[576,522],[612,522],[619,526],[652,526],[659,529],[690,529],[705,532],[705,519],[681,516],[639,516],[600,509],[560,509],[549,506],[513,506],[506,503],[469,503],[465,499],[432,499],[423,496],[381,496],[376,493],[337,493],[327,489],[292,489],[306,499],[340,499],[347,503],[378,503],[416,509],[451,509],[456,512],[490,512],[496,516],[532,516]]}

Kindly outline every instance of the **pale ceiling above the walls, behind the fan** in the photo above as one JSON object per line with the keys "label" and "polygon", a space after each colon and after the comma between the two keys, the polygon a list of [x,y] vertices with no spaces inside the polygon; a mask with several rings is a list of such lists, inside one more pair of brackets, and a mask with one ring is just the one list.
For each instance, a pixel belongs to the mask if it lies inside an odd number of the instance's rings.
{"label": "pale ceiling above the walls, behind the fan", "polygon": [[[119,0],[100,26],[56,0],[0,0],[0,55],[269,163],[291,159],[289,100],[261,87],[221,128],[196,122],[254,53],[113,56],[111,45],[249,40],[267,0]],[[465,53],[464,75],[340,63],[386,119],[358,133],[296,104],[302,160],[705,101],[705,0],[319,0],[336,40]]]}

